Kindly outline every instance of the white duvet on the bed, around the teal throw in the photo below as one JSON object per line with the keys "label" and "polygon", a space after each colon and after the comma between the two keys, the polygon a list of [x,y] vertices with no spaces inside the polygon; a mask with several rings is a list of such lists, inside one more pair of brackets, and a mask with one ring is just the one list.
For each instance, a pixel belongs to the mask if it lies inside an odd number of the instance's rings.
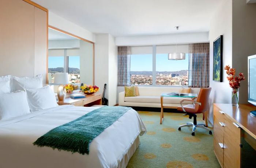
{"label": "white duvet on the bed, around the teal throw", "polygon": [[1,120],[0,168],[116,168],[137,136],[146,132],[133,109],[91,142],[89,155],[33,145],[51,129],[96,108],[63,105]]}

